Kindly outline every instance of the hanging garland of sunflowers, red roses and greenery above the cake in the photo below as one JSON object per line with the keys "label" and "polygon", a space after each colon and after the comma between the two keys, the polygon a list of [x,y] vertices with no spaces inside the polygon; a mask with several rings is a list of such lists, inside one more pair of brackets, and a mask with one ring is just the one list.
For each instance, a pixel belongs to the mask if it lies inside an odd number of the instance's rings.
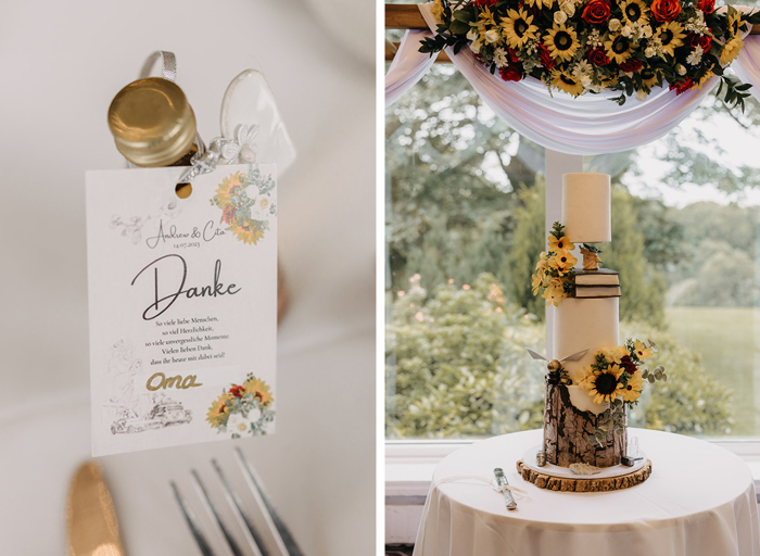
{"label": "hanging garland of sunflowers, red roses and greenery above the cake", "polygon": [[[469,48],[507,81],[527,76],[580,97],[601,89],[645,100],[655,87],[676,94],[720,76],[725,101],[744,110],[749,84],[724,75],[760,11],[714,0],[434,0],[436,35],[420,52]],[[719,90],[720,92],[720,90]]]}

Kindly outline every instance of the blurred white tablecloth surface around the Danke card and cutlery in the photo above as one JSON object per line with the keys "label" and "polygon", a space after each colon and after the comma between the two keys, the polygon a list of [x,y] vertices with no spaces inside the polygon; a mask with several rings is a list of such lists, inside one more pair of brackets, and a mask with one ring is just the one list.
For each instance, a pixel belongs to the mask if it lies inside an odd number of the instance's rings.
{"label": "blurred white tablecloth surface around the Danke card and cutlery", "polygon": [[[279,181],[277,433],[236,443],[308,555],[375,551],[375,2],[5,2],[0,18],[0,552],[62,554],[89,455],[87,169],[121,168],[113,96],[175,52],[205,139],[228,83],[267,77],[299,150]],[[127,551],[194,554],[168,479],[232,443],[101,462]],[[189,485],[188,485],[189,491]]]}

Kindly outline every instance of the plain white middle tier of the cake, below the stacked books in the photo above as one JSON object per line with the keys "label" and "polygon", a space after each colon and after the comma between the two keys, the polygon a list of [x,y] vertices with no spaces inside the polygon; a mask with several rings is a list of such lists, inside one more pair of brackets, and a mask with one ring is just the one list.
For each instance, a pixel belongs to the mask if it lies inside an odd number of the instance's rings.
{"label": "plain white middle tier of the cake, below the stacked books", "polygon": [[588,350],[579,361],[562,362],[573,383],[584,367],[594,363],[596,352],[618,345],[619,298],[560,300],[554,309],[553,357]]}

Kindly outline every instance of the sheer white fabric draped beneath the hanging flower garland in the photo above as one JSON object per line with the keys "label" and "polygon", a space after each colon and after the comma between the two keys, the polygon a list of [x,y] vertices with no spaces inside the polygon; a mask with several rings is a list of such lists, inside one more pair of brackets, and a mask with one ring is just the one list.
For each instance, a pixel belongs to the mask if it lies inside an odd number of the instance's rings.
{"label": "sheer white fabric draped beneath the hanging flower garland", "polygon": [[[419,9],[428,26],[435,28],[432,3]],[[430,31],[408,31],[385,77],[385,105],[395,102],[430,68],[432,59],[418,52],[419,41]],[[743,79],[756,84],[750,91],[760,98],[760,37],[745,39],[746,46],[734,63]],[[635,149],[654,141],[677,126],[709,93],[719,78],[701,89],[682,94],[656,88],[645,101],[629,98],[622,106],[609,100],[619,92],[603,91],[578,99],[555,91],[549,94],[537,79],[504,81],[492,75],[467,48],[454,54],[454,65],[498,117],[532,141],[568,154],[601,154]]]}

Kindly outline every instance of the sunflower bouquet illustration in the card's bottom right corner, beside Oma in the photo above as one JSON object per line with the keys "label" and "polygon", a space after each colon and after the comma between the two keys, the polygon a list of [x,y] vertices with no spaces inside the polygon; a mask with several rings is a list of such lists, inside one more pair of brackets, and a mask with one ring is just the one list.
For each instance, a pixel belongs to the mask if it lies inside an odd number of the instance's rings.
{"label": "sunflower bouquet illustration in the card's bottom right corner, beside Oma", "polygon": [[266,434],[266,425],[275,420],[275,402],[269,386],[249,374],[245,382],[223,390],[206,414],[206,420],[218,433],[231,433],[239,439]]}

